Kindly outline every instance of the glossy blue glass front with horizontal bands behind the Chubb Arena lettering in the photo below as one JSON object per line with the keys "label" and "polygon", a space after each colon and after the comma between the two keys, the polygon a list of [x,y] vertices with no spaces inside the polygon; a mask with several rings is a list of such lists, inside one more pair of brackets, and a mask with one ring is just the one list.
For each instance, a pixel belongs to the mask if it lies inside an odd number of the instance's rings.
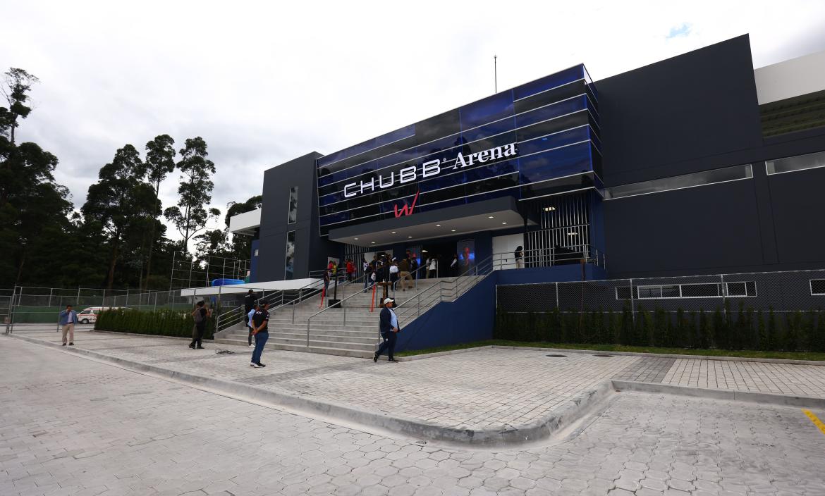
{"label": "glossy blue glass front with horizontal bands behind the Chubb Arena lettering", "polygon": [[321,234],[390,218],[416,194],[427,211],[593,187],[590,84],[568,68],[319,158]]}

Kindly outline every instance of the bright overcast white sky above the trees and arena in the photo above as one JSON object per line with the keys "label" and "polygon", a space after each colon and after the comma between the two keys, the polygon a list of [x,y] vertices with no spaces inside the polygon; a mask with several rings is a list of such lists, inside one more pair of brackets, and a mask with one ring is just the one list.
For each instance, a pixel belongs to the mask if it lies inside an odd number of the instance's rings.
{"label": "bright overcast white sky above the trees and arena", "polygon": [[[40,77],[18,139],[75,208],[115,150],[201,136],[225,211],[263,171],[584,63],[599,79],[749,33],[755,67],[825,49],[825,2],[0,0],[0,68]],[[176,201],[177,175],[162,187]],[[170,229],[172,237],[177,232]]]}

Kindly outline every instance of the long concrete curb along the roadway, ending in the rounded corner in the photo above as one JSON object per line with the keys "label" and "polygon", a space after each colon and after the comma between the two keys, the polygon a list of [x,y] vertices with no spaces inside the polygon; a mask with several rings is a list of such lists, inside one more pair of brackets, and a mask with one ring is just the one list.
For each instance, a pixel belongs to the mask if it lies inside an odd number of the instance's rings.
{"label": "long concrete curb along the roadway, ending in the rounded corner", "polygon": [[196,376],[186,372],[176,372],[147,363],[111,357],[104,353],[97,353],[88,349],[64,348],[60,344],[29,338],[27,336],[10,336],[32,344],[60,349],[66,353],[75,353],[97,359],[101,362],[113,363],[127,370],[146,372],[158,377],[167,377],[191,386],[210,389],[224,395],[240,396],[244,399],[271,403],[310,414],[322,414],[332,419],[341,419],[347,423],[360,424],[369,426],[370,428],[381,428],[391,433],[400,433],[411,438],[446,442],[460,446],[515,447],[525,443],[546,441],[561,429],[567,428],[578,419],[581,419],[586,414],[598,408],[603,404],[604,400],[613,394],[613,387],[610,381],[604,381],[597,386],[596,389],[583,392],[581,395],[573,398],[573,400],[570,400],[567,405],[564,405],[554,411],[553,414],[535,423],[512,426],[512,428],[505,429],[469,430],[447,428],[422,420],[368,412],[337,402],[313,400],[299,395],[269,391],[243,383]]}

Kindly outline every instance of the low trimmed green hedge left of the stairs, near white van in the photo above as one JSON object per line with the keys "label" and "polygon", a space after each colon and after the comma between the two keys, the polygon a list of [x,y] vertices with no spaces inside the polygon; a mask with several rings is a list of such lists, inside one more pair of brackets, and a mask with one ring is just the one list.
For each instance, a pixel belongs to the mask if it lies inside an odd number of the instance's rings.
{"label": "low trimmed green hedge left of the stairs, near white van", "polygon": [[[141,335],[192,337],[191,310],[106,310],[97,316],[95,330],[114,330],[117,332],[131,332]],[[214,336],[214,316],[206,321],[204,339]]]}

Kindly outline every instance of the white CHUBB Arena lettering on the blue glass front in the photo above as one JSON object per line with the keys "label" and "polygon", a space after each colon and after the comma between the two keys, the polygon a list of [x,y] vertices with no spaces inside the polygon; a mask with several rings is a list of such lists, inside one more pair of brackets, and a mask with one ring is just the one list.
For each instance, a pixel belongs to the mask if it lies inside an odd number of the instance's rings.
{"label": "white CHUBB Arena lettering on the blue glass front", "polygon": [[[452,170],[457,171],[464,167],[483,164],[488,161],[497,161],[508,157],[516,157],[516,155],[518,155],[516,143],[489,148],[481,152],[469,153],[466,156],[462,152],[459,152],[458,155],[455,156]],[[398,181],[398,185],[403,185],[404,183],[416,181],[419,177],[420,179],[426,179],[427,177],[439,175],[441,171],[450,169],[450,161],[445,162],[448,165],[442,168],[441,159],[436,158],[436,160],[422,163],[420,168],[418,166],[404,167],[398,171],[398,176],[396,176],[395,171],[392,171],[389,175],[379,175],[377,180],[373,177],[367,182],[361,180],[360,183],[348,183],[344,186],[344,197],[352,198],[359,194],[375,193],[376,190],[392,188],[396,184],[396,181]]]}

